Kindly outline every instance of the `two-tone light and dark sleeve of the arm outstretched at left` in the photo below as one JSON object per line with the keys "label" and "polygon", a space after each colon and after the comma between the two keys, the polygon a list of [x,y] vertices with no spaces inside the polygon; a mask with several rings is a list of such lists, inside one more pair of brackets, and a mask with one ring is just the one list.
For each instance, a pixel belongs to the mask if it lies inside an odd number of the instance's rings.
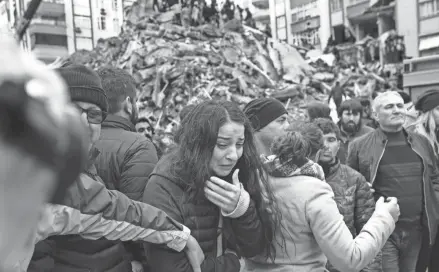
{"label": "two-tone light and dark sleeve of the arm outstretched at left", "polygon": [[190,234],[162,210],[108,190],[86,174],[67,190],[61,205],[48,204],[46,212],[50,212],[47,218],[40,220],[41,237],[79,234],[87,239],[166,244],[182,251]]}

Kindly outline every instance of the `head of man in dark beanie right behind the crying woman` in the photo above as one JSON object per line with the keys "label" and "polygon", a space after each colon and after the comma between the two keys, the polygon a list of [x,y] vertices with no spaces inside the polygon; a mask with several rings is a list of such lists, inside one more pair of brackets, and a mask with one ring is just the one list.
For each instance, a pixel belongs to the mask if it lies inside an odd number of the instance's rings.
{"label": "head of man in dark beanie right behind the crying woman", "polygon": [[282,136],[290,125],[285,106],[274,98],[258,98],[245,106],[244,113],[255,130],[256,148],[261,158],[270,156],[274,138]]}

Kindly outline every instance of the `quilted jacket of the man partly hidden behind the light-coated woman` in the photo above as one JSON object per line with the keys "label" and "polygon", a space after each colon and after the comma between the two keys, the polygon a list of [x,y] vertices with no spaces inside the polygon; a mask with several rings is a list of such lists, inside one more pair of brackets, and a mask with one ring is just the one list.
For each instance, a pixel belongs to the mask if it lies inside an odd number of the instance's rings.
{"label": "quilted jacket of the man partly hidden behind the light-coated woman", "polygon": [[[357,236],[375,210],[375,200],[366,179],[351,167],[340,164],[323,165],[326,182],[334,191],[334,199],[338,210],[344,217],[346,226]],[[382,271],[382,255],[379,253],[369,266],[362,271]],[[327,268],[338,272],[331,264]]]}

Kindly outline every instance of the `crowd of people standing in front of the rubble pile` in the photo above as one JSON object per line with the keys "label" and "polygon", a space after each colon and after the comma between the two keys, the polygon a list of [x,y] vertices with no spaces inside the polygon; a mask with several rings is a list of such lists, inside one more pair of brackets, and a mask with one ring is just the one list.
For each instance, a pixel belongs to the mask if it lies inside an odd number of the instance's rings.
{"label": "crowd of people standing in front of the rubble pile", "polygon": [[205,101],[161,150],[129,73],[43,70],[68,90],[88,159],[62,197],[32,187],[40,216],[0,231],[23,240],[0,240],[1,271],[439,271],[439,90],[342,101],[337,123],[324,103],[303,121],[273,98]]}

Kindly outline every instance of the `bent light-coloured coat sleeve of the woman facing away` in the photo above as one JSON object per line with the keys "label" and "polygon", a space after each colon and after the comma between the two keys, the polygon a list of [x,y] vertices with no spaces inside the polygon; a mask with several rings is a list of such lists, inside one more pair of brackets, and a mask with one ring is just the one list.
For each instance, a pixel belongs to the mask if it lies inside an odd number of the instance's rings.
{"label": "bent light-coloured coat sleeve of the woman facing away", "polygon": [[313,196],[307,201],[306,215],[328,261],[340,271],[365,268],[395,229],[392,215],[385,209],[377,209],[362,231],[353,238],[338,211],[331,187],[327,183],[316,182],[313,190]]}

